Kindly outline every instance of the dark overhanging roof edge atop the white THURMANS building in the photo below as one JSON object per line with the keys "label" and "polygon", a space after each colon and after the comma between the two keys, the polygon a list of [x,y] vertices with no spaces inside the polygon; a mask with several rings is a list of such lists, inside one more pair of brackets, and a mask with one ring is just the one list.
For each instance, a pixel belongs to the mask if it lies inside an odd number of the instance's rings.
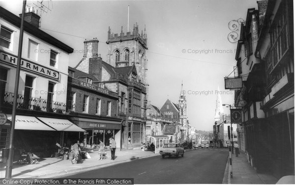
{"label": "dark overhanging roof edge atop the white THURMANS building", "polygon": [[[0,17],[5,19],[9,23],[13,24],[14,26],[17,26],[17,27],[21,26],[21,18],[1,6],[0,6]],[[69,47],[68,45],[64,44],[63,42],[59,41],[55,37],[49,35],[48,33],[42,31],[38,27],[32,26],[27,21],[24,21],[24,30],[32,34],[33,36],[38,37],[39,39],[67,53],[73,53],[74,51],[73,48]]]}

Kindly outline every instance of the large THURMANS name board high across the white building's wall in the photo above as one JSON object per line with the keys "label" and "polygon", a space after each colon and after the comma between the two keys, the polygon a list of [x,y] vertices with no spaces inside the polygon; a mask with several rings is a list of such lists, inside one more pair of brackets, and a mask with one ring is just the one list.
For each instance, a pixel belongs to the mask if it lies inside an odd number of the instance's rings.
{"label": "large THURMANS name board high across the white building's wall", "polygon": [[[0,52],[0,60],[13,66],[17,65],[17,56],[11,54]],[[45,76],[47,78],[59,80],[58,71],[52,70],[45,66],[41,66],[26,59],[21,59],[21,68],[36,73],[38,75]]]}

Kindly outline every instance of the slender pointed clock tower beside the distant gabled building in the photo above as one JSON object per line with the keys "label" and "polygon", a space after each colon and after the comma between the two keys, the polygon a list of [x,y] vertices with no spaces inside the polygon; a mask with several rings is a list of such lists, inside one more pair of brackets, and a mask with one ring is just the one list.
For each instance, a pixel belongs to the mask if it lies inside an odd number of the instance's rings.
{"label": "slender pointed clock tower beside the distant gabled building", "polygon": [[182,90],[181,84],[181,91],[179,96],[179,122],[180,126],[185,128],[185,132],[187,133],[187,107],[186,107],[186,100],[185,100],[185,92]]}

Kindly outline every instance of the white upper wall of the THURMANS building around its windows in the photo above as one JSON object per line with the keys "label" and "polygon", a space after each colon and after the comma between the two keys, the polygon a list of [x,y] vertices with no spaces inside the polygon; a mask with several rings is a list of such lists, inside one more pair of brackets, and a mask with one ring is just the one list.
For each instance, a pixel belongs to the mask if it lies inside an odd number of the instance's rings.
{"label": "white upper wall of the THURMANS building around its windows", "polygon": [[[4,53],[7,53],[9,55],[16,57],[15,62],[17,62],[20,28],[10,24],[9,22],[7,22],[6,20],[2,18],[0,18],[0,26],[5,26],[13,30],[9,49],[0,46],[0,51],[3,51]],[[29,40],[32,40],[38,44],[37,46],[38,49],[34,51],[34,53],[37,53],[36,60],[30,59],[28,57]],[[56,67],[50,66],[51,50],[58,52]],[[50,79],[38,73],[23,70],[21,68],[18,94],[22,94],[22,95],[24,94],[26,75],[29,75],[31,77],[34,77],[33,89],[31,94],[32,97],[35,97],[35,98],[41,97],[42,99],[47,99],[48,82],[51,81],[55,83],[55,87],[54,87],[55,94],[53,96],[53,101],[66,103],[69,53],[66,53],[65,51],[61,51],[59,48],[53,45],[50,45],[47,42],[24,31],[22,58],[28,60],[29,62],[34,62],[40,66],[44,66],[46,68],[53,69],[59,72],[59,80]],[[1,66],[8,68],[7,83],[6,83],[5,91],[13,93],[14,86],[15,86],[14,83],[15,83],[15,75],[16,75],[16,65],[11,66],[1,62]]]}

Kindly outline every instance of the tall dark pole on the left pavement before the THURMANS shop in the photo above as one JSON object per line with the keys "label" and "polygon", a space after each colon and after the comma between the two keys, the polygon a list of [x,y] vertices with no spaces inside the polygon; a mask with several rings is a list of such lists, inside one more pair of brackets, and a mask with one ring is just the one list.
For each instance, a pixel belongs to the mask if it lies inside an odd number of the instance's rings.
{"label": "tall dark pole on the left pavement before the THURMANS shop", "polygon": [[17,66],[16,66],[14,98],[13,98],[12,115],[11,115],[11,129],[10,129],[10,134],[9,134],[9,156],[8,156],[8,161],[7,161],[7,166],[6,166],[5,178],[11,178],[11,173],[12,173],[12,161],[13,161],[13,152],[14,152],[13,139],[14,139],[17,95],[18,95],[18,87],[19,87],[19,82],[20,82],[21,58],[22,58],[23,37],[24,37],[24,17],[25,17],[26,3],[27,3],[27,0],[24,0],[23,1],[21,27],[20,27],[20,39],[19,39],[19,47],[18,47]]}

